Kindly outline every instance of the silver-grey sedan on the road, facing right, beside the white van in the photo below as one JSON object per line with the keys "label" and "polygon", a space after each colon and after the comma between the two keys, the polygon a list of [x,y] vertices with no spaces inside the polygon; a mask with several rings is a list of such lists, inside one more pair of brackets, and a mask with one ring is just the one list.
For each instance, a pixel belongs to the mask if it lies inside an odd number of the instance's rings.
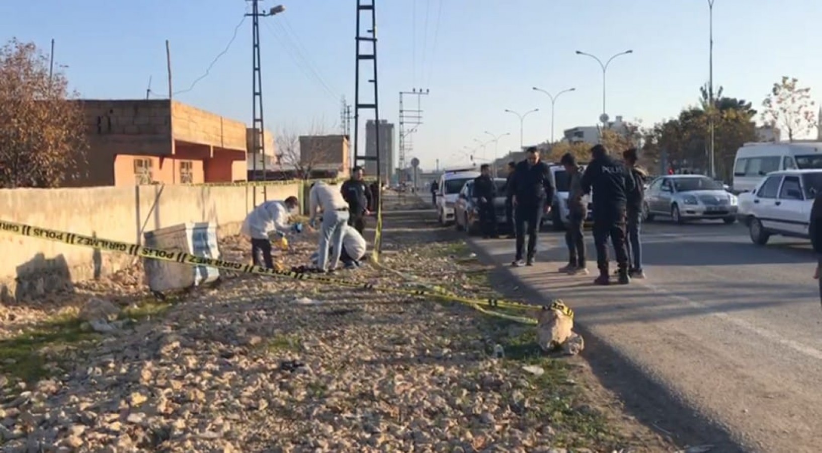
{"label": "silver-grey sedan on the road, facing right, beside the white van", "polygon": [[656,178],[645,192],[644,220],[668,216],[674,222],[687,220],[737,221],[737,196],[723,184],[701,174],[672,174]]}

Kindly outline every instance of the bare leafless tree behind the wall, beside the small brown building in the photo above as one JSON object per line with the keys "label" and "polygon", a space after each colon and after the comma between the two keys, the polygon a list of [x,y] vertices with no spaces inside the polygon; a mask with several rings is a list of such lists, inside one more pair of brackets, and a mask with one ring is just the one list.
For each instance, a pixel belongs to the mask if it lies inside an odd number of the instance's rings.
{"label": "bare leafless tree behind the wall, beside the small brown building", "polygon": [[334,164],[335,150],[324,138],[325,127],[320,122],[313,122],[305,135],[298,135],[284,128],[277,136],[277,149],[280,164],[293,168],[298,178],[309,179],[318,170]]}

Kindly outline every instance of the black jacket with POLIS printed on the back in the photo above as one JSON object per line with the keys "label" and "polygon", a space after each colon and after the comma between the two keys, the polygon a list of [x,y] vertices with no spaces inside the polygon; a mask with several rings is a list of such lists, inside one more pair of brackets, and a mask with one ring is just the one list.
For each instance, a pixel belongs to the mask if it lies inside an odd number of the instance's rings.
{"label": "black jacket with POLIS printed on the back", "polygon": [[634,178],[624,165],[604,155],[593,159],[582,175],[582,190],[593,189],[593,216],[612,217],[626,210],[628,194],[635,192]]}

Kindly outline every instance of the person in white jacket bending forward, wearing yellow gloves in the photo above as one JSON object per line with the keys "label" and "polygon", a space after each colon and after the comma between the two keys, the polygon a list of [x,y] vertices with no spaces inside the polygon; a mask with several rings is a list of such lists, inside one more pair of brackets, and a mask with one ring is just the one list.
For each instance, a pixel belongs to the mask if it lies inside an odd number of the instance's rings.
{"label": "person in white jacket bending forward, wearing yellow gloves", "polygon": [[284,201],[265,201],[246,216],[240,233],[252,239],[252,258],[256,266],[274,269],[271,258],[271,236],[302,231],[302,224],[289,224],[289,217],[297,210],[299,201],[289,196]]}

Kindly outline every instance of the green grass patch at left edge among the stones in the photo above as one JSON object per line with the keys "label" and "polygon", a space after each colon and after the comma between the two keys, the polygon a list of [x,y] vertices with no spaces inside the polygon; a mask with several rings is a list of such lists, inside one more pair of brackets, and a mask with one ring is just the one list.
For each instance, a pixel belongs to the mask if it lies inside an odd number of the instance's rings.
{"label": "green grass patch at left edge among the stones", "polygon": [[99,338],[81,331],[76,315],[59,315],[13,338],[0,340],[0,372],[9,381],[26,383],[48,377],[48,365],[66,359],[71,349]]}

